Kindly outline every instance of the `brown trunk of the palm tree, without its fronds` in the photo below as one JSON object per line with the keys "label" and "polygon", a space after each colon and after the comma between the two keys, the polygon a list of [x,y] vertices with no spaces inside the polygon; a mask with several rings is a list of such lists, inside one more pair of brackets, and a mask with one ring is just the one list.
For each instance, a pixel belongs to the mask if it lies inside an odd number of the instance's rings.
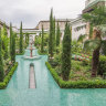
{"label": "brown trunk of the palm tree, without its fronds", "polygon": [[[94,39],[99,39],[100,38],[100,31],[96,30],[95,31],[95,36]],[[100,44],[98,45],[98,47],[96,50],[94,50],[93,52],[93,60],[92,60],[92,77],[95,77],[97,75],[97,68],[98,68],[98,63],[99,63],[99,50],[100,50]]]}

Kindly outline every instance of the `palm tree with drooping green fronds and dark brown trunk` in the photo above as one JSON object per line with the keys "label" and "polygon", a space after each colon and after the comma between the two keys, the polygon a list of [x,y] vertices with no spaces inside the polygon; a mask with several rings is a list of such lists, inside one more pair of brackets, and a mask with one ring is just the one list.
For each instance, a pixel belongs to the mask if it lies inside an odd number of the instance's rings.
{"label": "palm tree with drooping green fronds and dark brown trunk", "polygon": [[91,24],[89,36],[88,40],[85,41],[84,47],[87,47],[87,50],[93,50],[92,76],[95,77],[99,63],[102,38],[105,33],[104,28],[106,24],[106,8],[95,7],[91,13],[83,14],[83,19]]}

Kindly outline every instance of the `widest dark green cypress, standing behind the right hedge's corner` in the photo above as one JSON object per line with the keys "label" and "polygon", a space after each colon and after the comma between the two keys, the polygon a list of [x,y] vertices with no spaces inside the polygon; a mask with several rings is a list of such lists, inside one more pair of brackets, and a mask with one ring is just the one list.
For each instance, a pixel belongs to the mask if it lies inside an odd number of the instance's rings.
{"label": "widest dark green cypress, standing behind the right hedge's corner", "polygon": [[64,81],[68,80],[71,71],[71,30],[66,22],[64,38],[63,38],[63,50],[62,50],[62,76]]}

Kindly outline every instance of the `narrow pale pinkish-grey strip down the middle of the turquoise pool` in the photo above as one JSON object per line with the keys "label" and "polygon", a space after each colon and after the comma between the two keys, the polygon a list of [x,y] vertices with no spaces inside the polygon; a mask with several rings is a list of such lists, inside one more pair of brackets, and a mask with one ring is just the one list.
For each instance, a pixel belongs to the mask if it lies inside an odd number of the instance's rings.
{"label": "narrow pale pinkish-grey strip down the middle of the turquoise pool", "polygon": [[34,73],[34,66],[30,66],[30,76],[29,76],[29,87],[30,88],[35,88],[35,73]]}

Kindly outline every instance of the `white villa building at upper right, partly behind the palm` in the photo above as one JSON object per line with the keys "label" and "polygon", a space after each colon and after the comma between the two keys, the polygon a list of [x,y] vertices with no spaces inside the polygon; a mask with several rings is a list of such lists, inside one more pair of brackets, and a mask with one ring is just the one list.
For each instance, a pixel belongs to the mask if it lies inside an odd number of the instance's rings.
{"label": "white villa building at upper right, partly behind the palm", "polygon": [[[86,0],[83,13],[93,11],[95,6],[106,6],[106,0]],[[72,25],[72,40],[77,40],[82,34],[89,34],[89,23],[84,22],[82,14],[71,22]]]}

